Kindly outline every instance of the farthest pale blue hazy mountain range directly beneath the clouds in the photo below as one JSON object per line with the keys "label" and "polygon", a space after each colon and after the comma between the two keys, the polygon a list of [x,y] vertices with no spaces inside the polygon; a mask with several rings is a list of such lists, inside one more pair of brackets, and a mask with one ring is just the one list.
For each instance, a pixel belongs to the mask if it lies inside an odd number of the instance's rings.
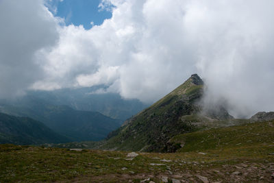
{"label": "farthest pale blue hazy mountain range directly beneath the clouds", "polygon": [[14,101],[0,101],[0,103],[21,107],[28,107],[32,103],[69,106],[74,110],[100,112],[121,121],[125,121],[149,106],[137,99],[123,99],[118,93],[100,93],[101,90],[105,90],[105,87],[63,88],[53,91],[29,90],[21,98]]}

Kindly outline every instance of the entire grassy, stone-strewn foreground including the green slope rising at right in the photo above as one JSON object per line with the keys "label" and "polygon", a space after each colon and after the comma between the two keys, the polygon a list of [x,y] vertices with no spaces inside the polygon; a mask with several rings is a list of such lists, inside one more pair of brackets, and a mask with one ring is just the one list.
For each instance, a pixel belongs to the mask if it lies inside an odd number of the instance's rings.
{"label": "entire grassy, stone-strewn foreground including the green slope rising at right", "polygon": [[170,145],[175,153],[138,156],[0,145],[0,182],[273,182],[274,121],[182,134]]}

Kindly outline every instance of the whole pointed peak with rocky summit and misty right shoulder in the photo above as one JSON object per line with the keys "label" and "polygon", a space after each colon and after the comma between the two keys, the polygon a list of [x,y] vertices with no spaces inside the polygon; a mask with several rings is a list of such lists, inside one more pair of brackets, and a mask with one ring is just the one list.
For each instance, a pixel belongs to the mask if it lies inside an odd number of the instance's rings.
{"label": "whole pointed peak with rocky summit and misty right shoulder", "polygon": [[171,93],[125,121],[108,135],[101,148],[132,151],[168,151],[169,139],[177,134],[195,132],[206,127],[229,125],[233,117],[220,106],[206,108],[199,102],[203,80],[194,74]]}

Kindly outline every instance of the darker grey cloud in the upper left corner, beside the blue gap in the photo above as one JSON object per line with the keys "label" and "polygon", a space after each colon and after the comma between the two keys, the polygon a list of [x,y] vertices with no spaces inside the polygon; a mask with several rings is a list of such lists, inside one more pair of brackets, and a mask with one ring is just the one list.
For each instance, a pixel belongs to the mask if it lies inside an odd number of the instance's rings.
{"label": "darker grey cloud in the upper left corner, beside the blue gap", "polygon": [[58,40],[58,21],[42,0],[0,1],[0,97],[21,95],[43,77],[36,51]]}

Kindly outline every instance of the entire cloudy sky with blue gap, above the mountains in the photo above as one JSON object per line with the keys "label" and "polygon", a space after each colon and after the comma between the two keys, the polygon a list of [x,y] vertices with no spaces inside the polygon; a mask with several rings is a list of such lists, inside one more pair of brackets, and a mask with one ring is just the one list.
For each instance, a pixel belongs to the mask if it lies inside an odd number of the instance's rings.
{"label": "entire cloudy sky with blue gap, above the mountains", "polygon": [[[272,0],[0,0],[0,97],[105,85],[157,101],[192,73],[235,117],[274,111]],[[91,23],[93,22],[93,23]]]}

